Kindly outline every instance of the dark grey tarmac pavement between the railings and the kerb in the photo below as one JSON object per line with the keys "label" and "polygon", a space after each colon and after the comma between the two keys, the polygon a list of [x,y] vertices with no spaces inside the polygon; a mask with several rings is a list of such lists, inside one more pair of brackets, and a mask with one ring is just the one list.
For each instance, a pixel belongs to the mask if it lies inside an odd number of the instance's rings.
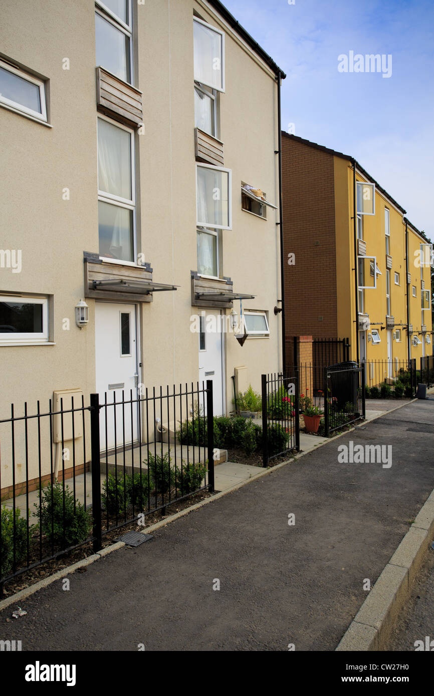
{"label": "dark grey tarmac pavement between the railings and the kerb", "polygon": [[[392,466],[340,464],[350,441],[392,445]],[[405,405],[70,575],[70,590],[56,581],[7,623],[11,605],[1,638],[23,650],[332,651],[434,488],[433,449],[434,401]]]}

